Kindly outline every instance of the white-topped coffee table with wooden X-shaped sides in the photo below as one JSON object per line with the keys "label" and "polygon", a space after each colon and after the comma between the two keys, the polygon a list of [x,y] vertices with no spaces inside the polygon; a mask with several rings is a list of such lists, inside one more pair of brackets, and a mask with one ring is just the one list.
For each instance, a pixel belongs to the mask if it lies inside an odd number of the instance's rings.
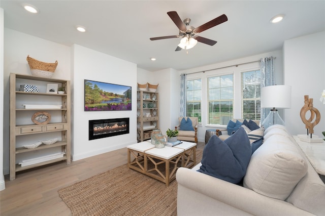
{"label": "white-topped coffee table with wooden X-shaped sides", "polygon": [[177,168],[196,164],[196,143],[184,142],[175,147],[155,148],[144,141],[127,146],[127,167],[164,182],[175,180]]}

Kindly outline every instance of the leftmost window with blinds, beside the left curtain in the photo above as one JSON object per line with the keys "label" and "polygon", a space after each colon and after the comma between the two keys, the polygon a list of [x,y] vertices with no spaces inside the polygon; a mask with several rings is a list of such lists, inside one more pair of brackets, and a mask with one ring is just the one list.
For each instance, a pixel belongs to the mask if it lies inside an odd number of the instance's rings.
{"label": "leftmost window with blinds, beside the left curtain", "polygon": [[201,123],[202,81],[186,80],[186,116],[198,117]]}

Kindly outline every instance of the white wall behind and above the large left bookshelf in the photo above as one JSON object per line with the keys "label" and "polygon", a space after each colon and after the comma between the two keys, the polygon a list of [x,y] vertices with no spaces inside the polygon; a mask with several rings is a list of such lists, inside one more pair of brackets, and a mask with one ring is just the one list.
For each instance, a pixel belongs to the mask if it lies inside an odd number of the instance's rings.
{"label": "white wall behind and above the large left bookshelf", "polygon": [[12,29],[4,29],[4,173],[9,174],[10,73],[31,75],[26,57],[58,61],[53,78],[70,79],[70,48]]}

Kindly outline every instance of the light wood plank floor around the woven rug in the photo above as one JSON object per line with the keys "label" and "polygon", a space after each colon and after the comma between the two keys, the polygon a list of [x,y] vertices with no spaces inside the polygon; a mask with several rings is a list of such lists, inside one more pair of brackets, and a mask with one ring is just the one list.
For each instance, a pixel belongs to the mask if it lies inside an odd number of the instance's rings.
{"label": "light wood plank floor around the woven rug", "polygon": [[[205,144],[199,142],[198,149]],[[0,192],[0,215],[72,215],[57,190],[127,163],[126,148],[33,170],[17,172],[16,180],[5,176],[6,189]]]}

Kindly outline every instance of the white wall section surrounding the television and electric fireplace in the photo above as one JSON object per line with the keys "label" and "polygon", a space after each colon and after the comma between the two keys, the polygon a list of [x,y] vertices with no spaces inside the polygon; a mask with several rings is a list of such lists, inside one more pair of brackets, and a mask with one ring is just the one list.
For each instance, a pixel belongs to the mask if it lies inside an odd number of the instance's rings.
{"label": "white wall section surrounding the television and electric fireplace", "polygon": [[[72,48],[73,160],[98,155],[137,142],[137,65],[78,45]],[[131,111],[84,111],[84,79],[132,87]],[[129,134],[88,140],[88,121],[129,118]]]}

